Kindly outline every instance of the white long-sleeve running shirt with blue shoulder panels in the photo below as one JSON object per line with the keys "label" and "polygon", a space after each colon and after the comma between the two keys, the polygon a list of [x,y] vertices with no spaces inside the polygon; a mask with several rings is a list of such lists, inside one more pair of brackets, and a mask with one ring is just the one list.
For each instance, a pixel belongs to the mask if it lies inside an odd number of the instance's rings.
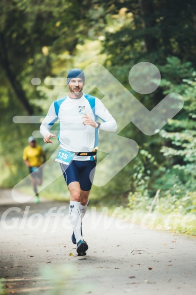
{"label": "white long-sleeve running shirt with blue shoulder panels", "polygon": [[[84,114],[92,120],[101,118],[100,129],[105,131],[117,130],[117,123],[100,99],[83,94],[79,99],[69,96],[55,101],[41,126],[40,133],[44,137],[50,132],[52,125],[59,119],[60,146],[72,152],[91,152],[98,145],[99,129],[91,125],[83,125]],[[74,160],[90,160],[90,156],[74,156]]]}

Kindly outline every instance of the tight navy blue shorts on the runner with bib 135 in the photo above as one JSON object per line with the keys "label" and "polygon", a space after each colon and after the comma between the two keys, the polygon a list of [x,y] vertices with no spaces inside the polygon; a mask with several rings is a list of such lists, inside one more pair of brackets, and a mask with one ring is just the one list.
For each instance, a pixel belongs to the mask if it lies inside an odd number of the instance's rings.
{"label": "tight navy blue shorts on the runner with bib 135", "polygon": [[[93,161],[77,161],[73,160],[69,165],[60,163],[63,176],[67,183],[67,186],[77,181],[80,184],[80,188],[83,191],[89,191],[92,186],[94,178],[94,172],[96,166],[96,160]],[[92,171],[93,170],[93,171]],[[92,171],[92,173],[90,173]]]}

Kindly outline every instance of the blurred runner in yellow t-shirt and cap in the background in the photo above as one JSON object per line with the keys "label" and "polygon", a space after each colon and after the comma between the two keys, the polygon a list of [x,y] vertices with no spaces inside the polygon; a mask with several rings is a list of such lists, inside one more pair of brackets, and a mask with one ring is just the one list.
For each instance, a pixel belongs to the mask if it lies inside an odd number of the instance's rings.
{"label": "blurred runner in yellow t-shirt and cap in the background", "polygon": [[36,144],[35,138],[30,136],[28,138],[29,145],[24,148],[23,160],[27,167],[29,167],[29,172],[31,174],[31,183],[35,193],[35,202],[39,202],[39,195],[37,193],[37,185],[42,183],[42,167],[45,162],[45,153],[41,146]]}

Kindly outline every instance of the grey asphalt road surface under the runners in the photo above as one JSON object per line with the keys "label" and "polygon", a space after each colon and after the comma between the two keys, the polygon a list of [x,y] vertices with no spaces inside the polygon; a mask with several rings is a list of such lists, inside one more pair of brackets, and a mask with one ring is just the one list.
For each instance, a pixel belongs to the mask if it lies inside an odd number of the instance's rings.
{"label": "grey asphalt road surface under the runners", "polygon": [[[20,202],[21,198],[21,202]],[[71,242],[68,204],[0,190],[0,277],[8,294],[195,294],[196,240],[88,208],[87,255]]]}

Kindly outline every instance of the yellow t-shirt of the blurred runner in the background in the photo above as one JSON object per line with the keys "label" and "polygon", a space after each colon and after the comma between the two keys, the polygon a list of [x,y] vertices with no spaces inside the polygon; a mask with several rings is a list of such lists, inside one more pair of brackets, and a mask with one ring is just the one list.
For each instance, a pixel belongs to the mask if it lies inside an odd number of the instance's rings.
{"label": "yellow t-shirt of the blurred runner in the background", "polygon": [[34,148],[26,146],[23,151],[23,160],[28,160],[32,167],[40,166],[43,163],[44,155],[45,153],[39,145]]}

